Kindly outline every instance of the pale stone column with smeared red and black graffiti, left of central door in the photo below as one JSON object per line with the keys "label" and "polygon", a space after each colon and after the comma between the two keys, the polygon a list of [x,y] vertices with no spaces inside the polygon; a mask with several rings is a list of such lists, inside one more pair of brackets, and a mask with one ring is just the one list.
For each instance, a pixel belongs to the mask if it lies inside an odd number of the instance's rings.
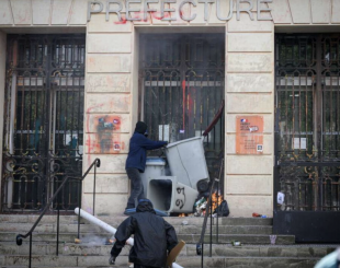
{"label": "pale stone column with smeared red and black graffiti, left of central door", "polygon": [[[125,160],[131,137],[132,24],[92,15],[87,27],[83,171],[101,159],[95,213],[122,213],[128,179]],[[83,208],[92,210],[93,170],[83,183]]]}

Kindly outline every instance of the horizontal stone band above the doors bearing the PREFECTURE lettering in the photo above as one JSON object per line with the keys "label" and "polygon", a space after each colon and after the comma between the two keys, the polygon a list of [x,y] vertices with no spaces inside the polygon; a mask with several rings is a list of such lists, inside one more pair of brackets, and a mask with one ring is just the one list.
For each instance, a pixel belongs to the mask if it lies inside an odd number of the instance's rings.
{"label": "horizontal stone band above the doors bearing the PREFECTURE lettering", "polygon": [[[144,0],[141,0],[143,2]],[[235,1],[235,0],[234,0]],[[229,12],[229,0],[223,2],[224,16]],[[257,1],[254,0],[254,3]],[[180,0],[171,8],[179,7]],[[87,26],[88,0],[0,0],[0,27],[5,26]],[[242,3],[245,4],[245,3]],[[143,7],[143,3],[140,4]],[[150,5],[150,4],[149,4]],[[158,4],[159,5],[159,4]],[[152,3],[150,8],[157,8]],[[186,7],[188,5],[188,7]],[[149,14],[146,21],[128,22],[136,25],[216,25],[226,24],[219,21],[216,15],[216,4],[212,3],[207,8],[208,20],[204,20],[204,5],[185,5],[183,12],[190,16],[191,12],[196,13],[193,21],[183,21],[174,14],[175,21],[162,21],[157,14]],[[234,4],[235,5],[235,4]],[[271,9],[273,23],[276,25],[325,25],[340,24],[340,0],[273,0],[268,3]],[[264,4],[263,4],[263,8]],[[158,7],[159,9],[159,7]],[[252,9],[257,20],[257,4]],[[123,10],[124,12],[124,10]],[[134,13],[134,12],[132,12]],[[136,13],[136,12],[135,12]],[[143,13],[139,12],[139,13]],[[105,12],[102,12],[105,14]],[[132,14],[134,15],[134,14]],[[137,14],[140,16],[140,14]],[[241,16],[249,16],[241,12]],[[110,14],[110,18],[116,16]],[[144,16],[144,15],[141,15]],[[267,15],[264,15],[267,16]],[[125,14],[123,14],[123,19]],[[234,9],[233,20],[236,18]],[[242,18],[241,18],[242,19]],[[110,19],[111,20],[111,19]],[[126,22],[126,21],[125,21]],[[237,21],[240,22],[240,21]],[[109,22],[107,22],[109,23]],[[235,23],[235,22],[234,22]],[[122,24],[123,25],[123,24]],[[123,26],[122,26],[123,27]]]}

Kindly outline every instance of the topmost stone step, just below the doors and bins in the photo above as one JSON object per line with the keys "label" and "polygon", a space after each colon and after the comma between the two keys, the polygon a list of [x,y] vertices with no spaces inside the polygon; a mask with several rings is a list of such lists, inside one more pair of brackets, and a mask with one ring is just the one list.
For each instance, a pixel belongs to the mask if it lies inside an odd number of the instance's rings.
{"label": "topmost stone step, just below the doors and bins", "polygon": [[[124,221],[126,215],[95,215],[100,220],[106,222],[111,225],[118,225]],[[0,222],[2,223],[34,223],[38,218],[38,214],[0,214]],[[56,214],[45,214],[41,221],[41,223],[56,223],[57,215]],[[186,222],[189,225],[201,225],[203,224],[202,217],[165,217],[165,220],[168,221],[172,225],[183,225],[183,222]],[[77,223],[78,215],[60,215],[60,223]],[[81,219],[81,222],[87,222]],[[208,219],[207,224],[209,225],[211,220]],[[216,224],[217,220],[213,219],[213,224]],[[272,218],[218,218],[218,223],[222,225],[272,225]]]}

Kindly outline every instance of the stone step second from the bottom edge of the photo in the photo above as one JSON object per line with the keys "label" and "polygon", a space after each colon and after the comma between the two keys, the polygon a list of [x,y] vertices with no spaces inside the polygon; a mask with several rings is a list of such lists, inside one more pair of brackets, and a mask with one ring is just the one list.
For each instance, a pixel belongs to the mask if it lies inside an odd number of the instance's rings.
{"label": "stone step second from the bottom edge of the photo", "polygon": [[[109,256],[112,245],[94,243],[63,243],[59,244],[59,255],[72,256]],[[121,256],[129,253],[129,246],[125,246]],[[230,244],[213,244],[213,256],[227,257],[322,257],[337,248],[337,245],[245,245],[231,246]],[[0,244],[0,255],[29,255],[29,242],[16,246],[13,242]],[[56,255],[56,243],[33,243],[33,255]],[[204,245],[204,255],[209,254],[209,244]],[[196,256],[196,246],[186,244],[181,256]]]}

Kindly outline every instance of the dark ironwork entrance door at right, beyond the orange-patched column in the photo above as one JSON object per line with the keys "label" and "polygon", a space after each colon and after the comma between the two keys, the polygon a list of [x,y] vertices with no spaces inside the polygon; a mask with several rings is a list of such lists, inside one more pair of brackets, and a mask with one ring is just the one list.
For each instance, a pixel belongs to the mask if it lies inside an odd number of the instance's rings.
{"label": "dark ironwork entrance door at right, beyond the orange-patched column", "polygon": [[276,217],[281,233],[332,241],[340,214],[340,35],[276,35],[275,48],[274,225]]}

